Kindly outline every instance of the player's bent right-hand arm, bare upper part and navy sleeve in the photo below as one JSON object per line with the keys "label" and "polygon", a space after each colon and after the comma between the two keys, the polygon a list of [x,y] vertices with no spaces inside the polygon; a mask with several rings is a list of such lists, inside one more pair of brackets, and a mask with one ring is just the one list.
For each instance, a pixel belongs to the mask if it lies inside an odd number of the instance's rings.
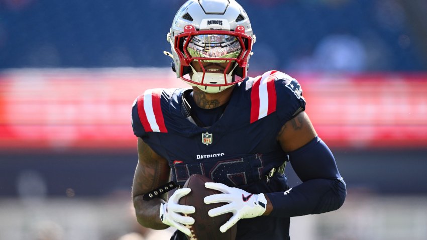
{"label": "player's bent right-hand arm, bare upper part and navy sleeve", "polygon": [[302,111],[288,121],[277,140],[302,183],[286,192],[267,193],[265,214],[294,217],[340,208],[346,197],[346,185],[334,155],[317,137],[308,115]]}

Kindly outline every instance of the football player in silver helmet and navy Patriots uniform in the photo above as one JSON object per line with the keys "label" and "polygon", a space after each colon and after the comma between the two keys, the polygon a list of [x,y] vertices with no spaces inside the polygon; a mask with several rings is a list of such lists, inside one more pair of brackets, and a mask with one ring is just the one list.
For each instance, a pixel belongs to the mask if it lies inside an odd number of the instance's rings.
{"label": "football player in silver helmet and navy Patriots uniform", "polygon": [[[234,0],[189,0],[167,34],[177,78],[188,89],[149,89],[135,100],[132,127],[139,161],[133,199],[140,224],[176,227],[171,239],[191,235],[193,206],[178,204],[192,174],[213,180],[205,187],[225,202],[209,216],[233,216],[236,239],[289,239],[289,219],[341,207],[346,185],[333,154],[317,136],[299,83],[279,71],[248,77],[255,35]],[[289,189],[290,162],[302,183]],[[168,183],[171,181],[170,183]],[[168,183],[167,185],[165,185]]]}

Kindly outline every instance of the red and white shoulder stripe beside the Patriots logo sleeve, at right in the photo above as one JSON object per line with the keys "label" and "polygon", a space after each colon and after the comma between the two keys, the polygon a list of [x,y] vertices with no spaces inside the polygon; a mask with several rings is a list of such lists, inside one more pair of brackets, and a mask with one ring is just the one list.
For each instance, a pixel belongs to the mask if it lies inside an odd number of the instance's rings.
{"label": "red and white shoulder stripe beside the Patriots logo sleeve, at right", "polygon": [[276,111],[276,88],[274,73],[268,71],[254,81],[251,91],[251,124]]}

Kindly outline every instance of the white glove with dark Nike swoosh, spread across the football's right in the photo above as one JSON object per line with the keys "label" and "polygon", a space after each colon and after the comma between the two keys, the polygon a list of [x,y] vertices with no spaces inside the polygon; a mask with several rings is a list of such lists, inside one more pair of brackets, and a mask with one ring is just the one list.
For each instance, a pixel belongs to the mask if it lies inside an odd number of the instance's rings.
{"label": "white glove with dark Nike swoosh, spread across the football's right", "polygon": [[226,232],[242,218],[261,216],[266,210],[267,199],[264,193],[251,194],[240,188],[229,187],[222,183],[215,182],[206,182],[204,186],[223,192],[205,197],[203,199],[204,203],[228,202],[228,204],[221,207],[210,209],[207,212],[209,216],[215,217],[227,212],[233,213],[230,220],[220,227],[221,232]]}

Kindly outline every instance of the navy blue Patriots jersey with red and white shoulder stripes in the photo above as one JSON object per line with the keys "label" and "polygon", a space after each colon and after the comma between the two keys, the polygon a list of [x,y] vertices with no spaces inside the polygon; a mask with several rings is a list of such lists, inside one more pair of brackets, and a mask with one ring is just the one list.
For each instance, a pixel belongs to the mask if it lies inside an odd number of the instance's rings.
{"label": "navy blue Patriots jersey with red and white shoulder stripes", "polygon": [[[134,134],[169,162],[173,181],[183,185],[190,175],[201,174],[254,194],[289,188],[285,176],[276,174],[268,184],[265,176],[287,160],[276,140],[280,129],[305,109],[295,79],[277,71],[245,79],[233,89],[222,117],[208,128],[192,121],[186,90],[149,89],[132,110]],[[237,224],[236,239],[287,239],[289,234],[286,217],[260,216]]]}

